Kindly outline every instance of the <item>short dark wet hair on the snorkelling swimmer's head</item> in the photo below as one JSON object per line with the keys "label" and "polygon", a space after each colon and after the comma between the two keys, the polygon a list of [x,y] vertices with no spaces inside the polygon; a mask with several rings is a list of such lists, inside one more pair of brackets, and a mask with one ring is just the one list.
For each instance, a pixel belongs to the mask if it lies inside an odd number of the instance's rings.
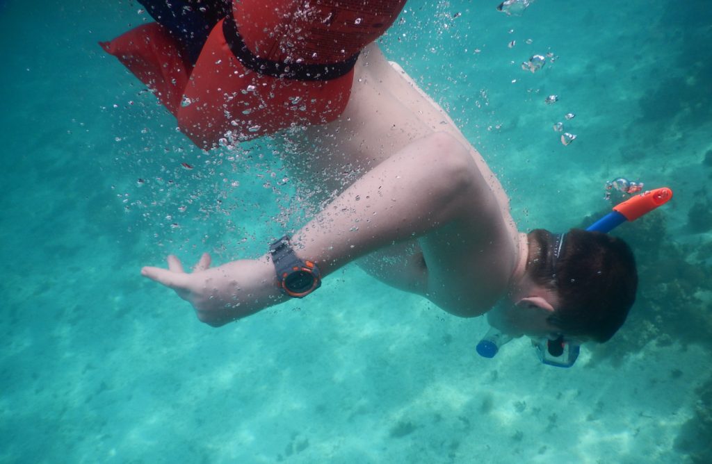
{"label": "short dark wet hair on the snorkelling swimmer's head", "polygon": [[607,233],[572,228],[562,242],[557,238],[544,229],[528,233],[527,270],[535,283],[559,295],[559,307],[548,321],[564,335],[607,342],[635,301],[638,273],[633,252]]}

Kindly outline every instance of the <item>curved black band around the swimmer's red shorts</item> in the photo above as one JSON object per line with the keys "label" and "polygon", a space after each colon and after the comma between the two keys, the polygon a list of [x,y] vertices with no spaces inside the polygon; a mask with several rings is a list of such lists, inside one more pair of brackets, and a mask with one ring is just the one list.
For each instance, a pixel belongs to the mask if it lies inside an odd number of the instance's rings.
{"label": "curved black band around the swimmer's red shorts", "polygon": [[237,24],[232,14],[228,14],[223,21],[223,34],[230,47],[230,51],[240,60],[246,68],[269,75],[273,78],[295,80],[332,80],[346,75],[356,64],[359,52],[340,63],[303,64],[283,63],[281,61],[266,60],[256,56],[250,51],[242,40],[237,30]]}

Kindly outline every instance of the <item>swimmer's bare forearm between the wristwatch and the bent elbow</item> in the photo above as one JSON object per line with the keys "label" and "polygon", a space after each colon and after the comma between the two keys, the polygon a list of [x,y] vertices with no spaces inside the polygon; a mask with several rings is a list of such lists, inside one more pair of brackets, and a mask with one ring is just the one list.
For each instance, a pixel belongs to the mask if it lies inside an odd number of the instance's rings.
{"label": "swimmer's bare forearm between the wristwatch and the bent elbow", "polygon": [[364,174],[292,238],[323,275],[384,246],[448,233],[478,236],[496,199],[468,149],[436,133]]}

